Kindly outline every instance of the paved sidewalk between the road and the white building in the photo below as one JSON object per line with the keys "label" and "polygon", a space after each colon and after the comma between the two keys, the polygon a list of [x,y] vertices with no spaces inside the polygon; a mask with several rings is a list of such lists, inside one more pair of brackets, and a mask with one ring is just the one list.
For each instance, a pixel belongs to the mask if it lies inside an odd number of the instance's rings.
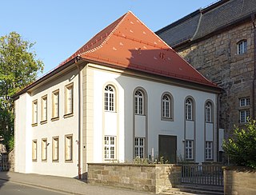
{"label": "paved sidewalk between the road and the white building", "polygon": [[[0,172],[0,180],[13,181],[22,185],[32,185],[44,189],[76,195],[146,195],[130,189],[118,189],[99,185],[90,185],[83,180],[70,177],[56,177],[32,173]],[[1,192],[1,188],[0,188]],[[152,193],[151,193],[152,194]]]}

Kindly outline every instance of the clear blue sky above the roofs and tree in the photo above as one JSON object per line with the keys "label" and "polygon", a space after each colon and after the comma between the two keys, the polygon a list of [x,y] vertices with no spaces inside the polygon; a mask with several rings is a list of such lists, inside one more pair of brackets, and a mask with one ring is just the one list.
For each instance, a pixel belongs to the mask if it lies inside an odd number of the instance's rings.
{"label": "clear blue sky above the roofs and tree", "polygon": [[[216,0],[0,0],[0,36],[15,31],[36,42],[43,74],[131,10],[156,31]],[[41,74],[39,74],[41,76]]]}

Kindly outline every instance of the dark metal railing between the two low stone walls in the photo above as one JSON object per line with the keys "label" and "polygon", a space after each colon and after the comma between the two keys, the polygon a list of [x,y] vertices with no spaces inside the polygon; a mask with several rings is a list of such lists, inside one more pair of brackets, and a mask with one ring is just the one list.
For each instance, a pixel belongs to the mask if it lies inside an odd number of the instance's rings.
{"label": "dark metal railing between the two low stone walls", "polygon": [[222,165],[182,165],[182,183],[223,186]]}

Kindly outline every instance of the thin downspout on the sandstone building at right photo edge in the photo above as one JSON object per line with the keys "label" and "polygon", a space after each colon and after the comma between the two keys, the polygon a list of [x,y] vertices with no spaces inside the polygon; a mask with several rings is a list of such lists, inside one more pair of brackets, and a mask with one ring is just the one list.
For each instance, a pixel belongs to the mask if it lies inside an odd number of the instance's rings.
{"label": "thin downspout on the sandstone building at right photo edge", "polygon": [[255,26],[255,14],[251,15],[251,20],[253,22],[253,31],[254,31],[254,75],[252,83],[252,118],[255,119],[255,78],[256,78],[256,26]]}

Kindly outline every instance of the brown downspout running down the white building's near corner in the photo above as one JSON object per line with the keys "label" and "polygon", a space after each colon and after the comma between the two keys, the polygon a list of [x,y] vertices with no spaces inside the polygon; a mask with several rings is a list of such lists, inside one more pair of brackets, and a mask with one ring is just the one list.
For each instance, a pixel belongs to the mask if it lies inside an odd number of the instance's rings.
{"label": "brown downspout running down the white building's near corner", "polygon": [[82,101],[82,98],[81,98],[81,73],[82,71],[80,70],[80,67],[78,65],[78,61],[80,61],[80,57],[76,57],[75,60],[74,60],[74,63],[75,65],[77,66],[78,68],[78,178],[79,179],[82,179],[81,177],[81,117],[82,117],[82,113],[81,113],[81,101]]}

